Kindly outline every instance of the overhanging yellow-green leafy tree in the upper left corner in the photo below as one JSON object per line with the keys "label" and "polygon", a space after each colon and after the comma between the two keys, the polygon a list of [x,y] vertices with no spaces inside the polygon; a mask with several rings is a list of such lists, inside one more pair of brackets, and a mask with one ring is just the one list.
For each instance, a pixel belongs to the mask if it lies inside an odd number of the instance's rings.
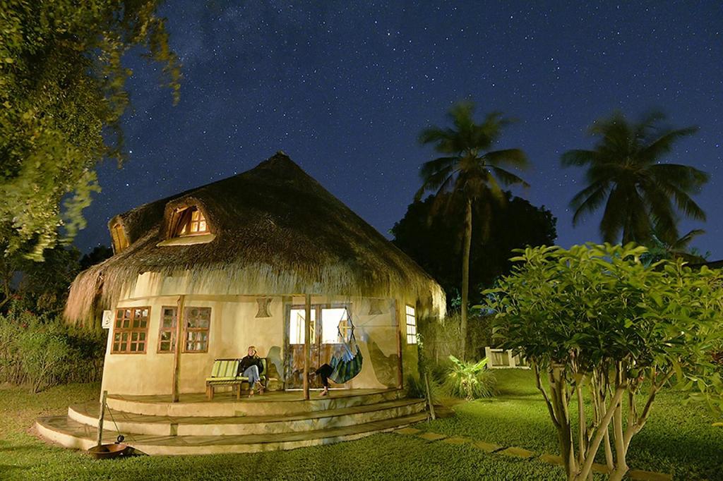
{"label": "overhanging yellow-green leafy tree in the upper left corner", "polygon": [[[123,159],[119,121],[140,47],[163,64],[174,101],[179,61],[161,0],[0,2],[0,248],[40,260],[85,227],[95,165]],[[62,205],[61,205],[62,204]],[[61,233],[59,233],[59,230]]]}

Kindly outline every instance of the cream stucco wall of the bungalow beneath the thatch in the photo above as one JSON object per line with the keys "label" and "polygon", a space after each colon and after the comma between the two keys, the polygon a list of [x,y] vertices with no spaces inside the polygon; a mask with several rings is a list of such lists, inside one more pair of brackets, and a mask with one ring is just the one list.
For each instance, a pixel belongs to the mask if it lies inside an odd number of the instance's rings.
{"label": "cream stucco wall of the bungalow beneath the thatch", "polygon": [[[150,306],[145,354],[111,354],[113,328],[106,346],[103,389],[111,394],[171,394],[174,355],[158,353],[158,329],[163,306],[176,306],[178,296],[142,297],[138,282],[133,298],[121,300],[116,308]],[[247,346],[255,345],[262,357],[270,358],[283,377],[284,328],[286,309],[303,305],[303,297],[275,296],[269,306],[270,317],[256,318],[254,296],[187,295],[186,307],[210,307],[211,324],[208,352],[181,353],[179,389],[181,393],[202,392],[217,358],[241,358]],[[416,371],[416,346],[406,346],[405,303],[411,300],[379,300],[381,313],[370,314],[372,300],[363,298],[317,297],[313,304],[351,305],[355,336],[364,356],[359,376],[348,384],[354,389],[384,388],[397,385],[397,325],[403,346],[403,370]],[[413,304],[414,305],[414,304]],[[410,371],[411,370],[411,371]]]}

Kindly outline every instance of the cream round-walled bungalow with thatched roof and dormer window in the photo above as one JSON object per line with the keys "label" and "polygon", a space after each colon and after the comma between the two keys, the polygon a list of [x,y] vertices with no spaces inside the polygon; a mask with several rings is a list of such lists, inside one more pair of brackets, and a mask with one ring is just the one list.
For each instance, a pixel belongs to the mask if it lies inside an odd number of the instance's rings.
{"label": "cream round-walled bungalow with thatched roof and dormer window", "polygon": [[65,315],[90,324],[113,311],[111,393],[169,393],[174,369],[181,392],[202,391],[213,360],[248,345],[270,359],[280,387],[299,387],[307,295],[311,367],[328,362],[351,319],[366,360],[347,387],[396,386],[400,358],[416,368],[416,319],[443,315],[437,282],[281,152],[108,228],[115,254],[78,275]]}

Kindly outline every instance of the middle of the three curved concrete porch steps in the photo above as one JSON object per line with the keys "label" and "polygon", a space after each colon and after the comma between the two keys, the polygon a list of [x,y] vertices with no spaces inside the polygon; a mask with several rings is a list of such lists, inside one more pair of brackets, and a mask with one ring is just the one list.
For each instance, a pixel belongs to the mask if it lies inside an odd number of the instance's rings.
{"label": "middle of the three curved concrete porch steps", "polygon": [[[395,399],[377,404],[361,404],[335,410],[301,412],[289,415],[235,417],[168,417],[137,415],[106,410],[105,427],[117,425],[121,433],[153,436],[241,436],[268,433],[294,433],[321,430],[372,421],[405,417],[424,411],[423,399]],[[98,426],[97,403],[68,408],[68,417],[92,428]]]}

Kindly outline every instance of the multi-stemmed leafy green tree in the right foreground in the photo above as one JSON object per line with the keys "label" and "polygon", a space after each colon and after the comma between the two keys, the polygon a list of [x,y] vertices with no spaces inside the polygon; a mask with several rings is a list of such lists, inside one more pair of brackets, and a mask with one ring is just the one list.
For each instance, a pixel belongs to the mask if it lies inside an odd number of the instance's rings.
{"label": "multi-stemmed leafy green tree in the right foreground", "polygon": [[601,444],[610,479],[623,479],[630,441],[673,378],[690,399],[723,407],[714,363],[723,273],[680,260],[646,265],[645,252],[633,243],[526,248],[487,290],[496,336],[534,369],[569,480],[588,479]]}

